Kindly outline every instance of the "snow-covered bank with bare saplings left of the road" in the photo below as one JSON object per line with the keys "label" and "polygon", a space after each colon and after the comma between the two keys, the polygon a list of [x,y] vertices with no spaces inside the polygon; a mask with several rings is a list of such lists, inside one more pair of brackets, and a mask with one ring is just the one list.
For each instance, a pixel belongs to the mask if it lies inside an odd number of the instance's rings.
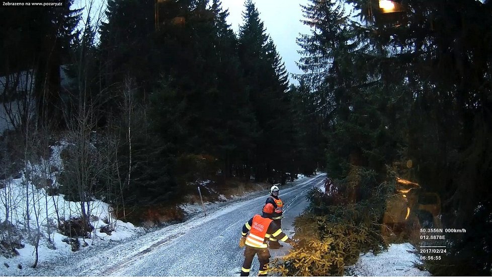
{"label": "snow-covered bank with bare saplings left of the road", "polygon": [[[71,217],[80,215],[80,203],[66,201],[63,198],[63,195],[46,195],[46,191],[44,189],[36,189],[31,183],[27,184],[27,186],[29,189],[30,198],[35,199],[34,203],[36,205],[36,209],[39,209],[40,211],[38,216],[39,222],[40,224],[42,224],[40,226],[42,238],[38,248],[39,263],[52,259],[56,256],[67,255],[71,252],[71,246],[63,241],[67,237],[58,233],[55,223],[57,222],[56,209],[58,209],[58,215],[60,219],[69,219]],[[23,178],[11,179],[9,184],[5,188],[2,188],[0,191],[1,195],[9,195],[12,197],[11,199],[15,200],[11,202],[11,204],[13,204],[13,209],[9,211],[10,214],[8,215],[8,220],[14,226],[17,226],[20,230],[24,229],[26,226],[25,193],[26,184],[25,182],[23,182]],[[92,207],[91,224],[94,226],[95,229],[91,234],[91,239],[80,239],[81,247],[90,247],[103,241],[123,240],[141,231],[140,227],[135,227],[131,223],[125,223],[118,220],[116,221],[116,230],[113,231],[111,235],[100,233],[99,228],[107,225],[105,221],[107,222],[107,220],[111,219],[112,217],[109,212],[109,206],[108,204],[99,200],[91,201],[90,205]],[[6,217],[7,215],[5,206],[2,205],[2,209],[0,209],[0,220],[4,222],[6,220]],[[31,229],[36,228],[37,225],[35,214],[33,211],[31,211],[31,217]],[[47,225],[46,222],[52,222],[52,224]],[[33,230],[33,232],[36,231]],[[51,233],[49,235],[51,242],[48,241],[48,233]],[[21,249],[17,249],[17,251],[19,252],[18,256],[7,258],[3,255],[0,255],[0,272],[2,272],[0,273],[0,275],[22,275],[22,268],[33,265],[35,259],[35,248],[32,245],[32,242],[30,242],[26,238],[26,232],[23,231],[22,234],[24,237],[22,239],[24,247]],[[87,244],[85,244],[84,242],[86,242]]]}

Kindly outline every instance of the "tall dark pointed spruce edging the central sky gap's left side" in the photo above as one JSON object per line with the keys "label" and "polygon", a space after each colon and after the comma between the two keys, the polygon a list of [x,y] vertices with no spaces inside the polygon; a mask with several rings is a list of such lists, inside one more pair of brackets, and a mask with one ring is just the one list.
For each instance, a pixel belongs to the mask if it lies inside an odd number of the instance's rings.
{"label": "tall dark pointed spruce edging the central sky gap's left side", "polygon": [[[274,172],[283,174],[286,161],[292,159],[284,156],[292,148],[285,93],[288,84],[285,67],[273,41],[269,41],[255,4],[248,0],[244,5],[238,53],[260,131],[253,153],[255,177],[265,180],[277,175]],[[275,181],[280,181],[278,178]]]}

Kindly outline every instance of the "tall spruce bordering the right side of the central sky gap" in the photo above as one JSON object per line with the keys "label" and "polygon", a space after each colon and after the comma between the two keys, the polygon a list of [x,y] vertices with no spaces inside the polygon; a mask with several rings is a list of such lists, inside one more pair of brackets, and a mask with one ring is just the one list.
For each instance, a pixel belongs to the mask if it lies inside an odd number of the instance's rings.
{"label": "tall spruce bordering the right side of the central sky gap", "polygon": [[[304,24],[312,33],[302,35],[298,44],[304,49],[299,65],[306,73],[303,81],[310,86],[318,114],[327,124],[328,170],[332,176],[343,176],[349,169],[349,157],[362,160],[360,137],[340,130],[349,128],[356,107],[354,99],[360,93],[354,57],[358,50],[353,28],[342,3],[312,0],[303,7]],[[346,130],[349,131],[350,130]],[[350,141],[350,143],[348,143]]]}

